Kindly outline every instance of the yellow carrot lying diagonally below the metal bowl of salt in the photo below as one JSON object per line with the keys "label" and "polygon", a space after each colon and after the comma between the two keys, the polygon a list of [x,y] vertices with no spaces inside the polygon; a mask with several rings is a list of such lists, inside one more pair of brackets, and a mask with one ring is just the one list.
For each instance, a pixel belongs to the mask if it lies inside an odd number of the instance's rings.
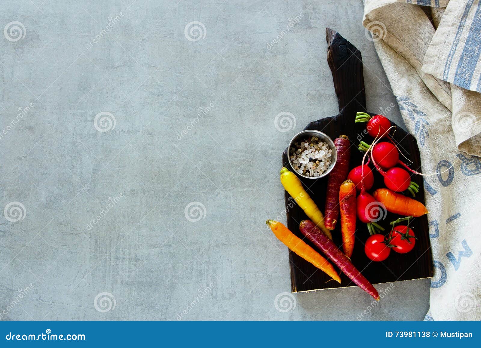
{"label": "yellow carrot lying diagonally below the metal bowl of salt", "polygon": [[289,171],[286,167],[280,170],[280,182],[284,189],[291,195],[294,201],[304,210],[305,215],[316,224],[316,226],[324,232],[330,240],[332,240],[331,232],[324,226],[324,216],[322,215],[316,203],[309,194],[304,190],[301,180]]}

